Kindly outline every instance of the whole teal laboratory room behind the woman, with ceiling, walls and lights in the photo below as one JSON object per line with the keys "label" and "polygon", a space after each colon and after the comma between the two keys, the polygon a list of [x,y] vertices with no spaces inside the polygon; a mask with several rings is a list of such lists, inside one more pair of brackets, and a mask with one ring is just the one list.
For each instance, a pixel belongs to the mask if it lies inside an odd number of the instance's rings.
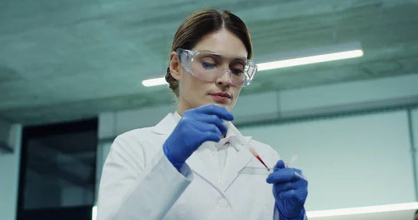
{"label": "whole teal laboratory room behind the woman, with ceiling, walls and lights", "polygon": [[249,27],[234,125],[304,172],[307,217],[414,219],[417,0],[0,0],[0,220],[95,219],[115,137],[176,111],[162,77],[203,8]]}

